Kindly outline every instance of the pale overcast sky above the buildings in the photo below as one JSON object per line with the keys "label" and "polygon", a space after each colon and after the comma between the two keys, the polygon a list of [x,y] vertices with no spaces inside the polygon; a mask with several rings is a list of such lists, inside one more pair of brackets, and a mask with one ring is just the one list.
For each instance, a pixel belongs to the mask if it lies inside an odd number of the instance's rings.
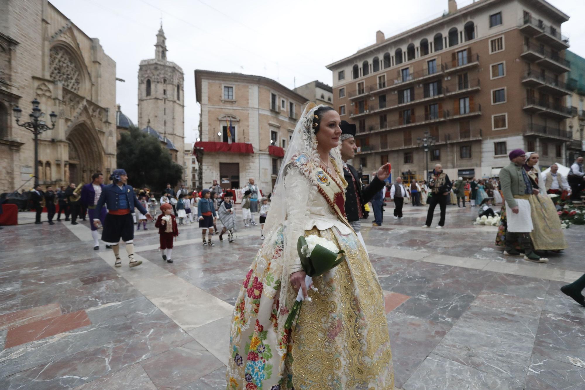
{"label": "pale overcast sky above the buildings", "polygon": [[[376,41],[441,16],[447,0],[221,1],[50,0],[116,61],[116,102],[137,124],[140,60],[154,58],[160,20],[167,58],[185,73],[185,142],[197,137],[194,70],[266,76],[294,88],[332,84],[325,65]],[[460,0],[459,6],[472,3]],[[550,0],[571,16],[562,25],[573,52],[585,57],[585,2]],[[251,6],[254,4],[254,6]],[[367,5],[367,6],[361,6]]]}

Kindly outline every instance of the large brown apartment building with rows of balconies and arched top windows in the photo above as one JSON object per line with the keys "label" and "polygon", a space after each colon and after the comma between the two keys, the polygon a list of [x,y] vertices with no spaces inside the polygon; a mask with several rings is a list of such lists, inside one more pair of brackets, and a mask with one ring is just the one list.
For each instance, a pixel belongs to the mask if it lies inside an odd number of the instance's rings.
{"label": "large brown apartment building with rows of balconies and arched top windows", "polygon": [[327,66],[336,109],[357,125],[354,164],[421,179],[435,163],[451,177],[494,176],[515,148],[540,152],[543,166],[564,159],[576,114],[563,76],[569,16],[543,0],[448,6]]}

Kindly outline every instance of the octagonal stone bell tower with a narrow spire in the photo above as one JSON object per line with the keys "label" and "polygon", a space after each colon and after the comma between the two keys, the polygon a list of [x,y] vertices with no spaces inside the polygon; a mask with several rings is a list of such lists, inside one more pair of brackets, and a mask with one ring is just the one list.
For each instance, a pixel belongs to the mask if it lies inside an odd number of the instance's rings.
{"label": "octagonal stone bell tower with a narrow spire", "polygon": [[156,35],[154,59],[140,61],[138,70],[138,126],[166,143],[173,160],[183,167],[185,96],[183,69],[167,60],[163,27]]}

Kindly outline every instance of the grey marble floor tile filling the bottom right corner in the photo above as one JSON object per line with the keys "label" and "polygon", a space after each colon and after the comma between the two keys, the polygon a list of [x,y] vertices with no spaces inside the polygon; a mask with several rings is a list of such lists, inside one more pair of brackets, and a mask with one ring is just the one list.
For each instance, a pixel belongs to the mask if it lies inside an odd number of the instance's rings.
{"label": "grey marble floor tile filling the bottom right corner", "polygon": [[582,390],[584,388],[585,368],[541,355],[532,355],[526,377],[526,389]]}

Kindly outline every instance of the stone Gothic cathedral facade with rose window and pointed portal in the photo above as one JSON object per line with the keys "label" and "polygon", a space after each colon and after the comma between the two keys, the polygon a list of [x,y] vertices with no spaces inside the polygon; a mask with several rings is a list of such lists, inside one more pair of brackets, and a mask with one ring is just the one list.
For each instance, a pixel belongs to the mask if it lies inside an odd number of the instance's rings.
{"label": "stone Gothic cathedral facade with rose window and pointed portal", "polygon": [[[40,101],[54,129],[39,136],[16,124]],[[116,165],[116,63],[99,44],[47,0],[0,2],[0,193],[23,186],[39,166],[39,182],[88,183]],[[30,180],[27,182],[27,180]],[[26,183],[27,182],[27,183]],[[26,183],[26,184],[25,184]]]}

